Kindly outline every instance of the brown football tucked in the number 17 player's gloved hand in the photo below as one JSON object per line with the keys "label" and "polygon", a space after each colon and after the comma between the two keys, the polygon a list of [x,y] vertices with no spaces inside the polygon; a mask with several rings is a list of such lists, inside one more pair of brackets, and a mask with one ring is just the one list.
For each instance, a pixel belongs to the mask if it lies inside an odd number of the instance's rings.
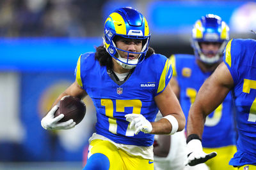
{"label": "brown football tucked in the number 17 player's gloved hand", "polygon": [[55,111],[54,116],[64,115],[59,122],[66,122],[67,120],[73,119],[77,125],[83,120],[86,113],[86,106],[83,101],[74,96],[63,97],[57,105],[59,108]]}

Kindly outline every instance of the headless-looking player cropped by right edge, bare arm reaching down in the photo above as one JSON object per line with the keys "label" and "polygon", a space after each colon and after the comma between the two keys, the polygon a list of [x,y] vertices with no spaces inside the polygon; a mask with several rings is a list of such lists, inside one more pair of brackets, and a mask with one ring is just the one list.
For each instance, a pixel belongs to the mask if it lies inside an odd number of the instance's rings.
{"label": "headless-looking player cropped by right edge, bare arm reaching down", "polygon": [[[200,164],[216,155],[202,149],[202,134],[206,117],[218,108],[228,93],[236,105],[237,152],[229,164],[236,169],[256,169],[256,41],[231,39],[223,62],[200,88],[189,110],[187,163]],[[225,131],[221,129],[220,131]],[[203,137],[204,138],[204,137]],[[227,136],[228,138],[228,136]]]}

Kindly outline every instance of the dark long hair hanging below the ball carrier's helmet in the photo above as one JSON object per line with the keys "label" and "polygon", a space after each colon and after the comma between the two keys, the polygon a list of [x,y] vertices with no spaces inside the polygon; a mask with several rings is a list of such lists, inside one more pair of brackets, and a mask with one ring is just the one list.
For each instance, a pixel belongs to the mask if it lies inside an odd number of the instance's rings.
{"label": "dark long hair hanging below the ball carrier's helmet", "polygon": [[[146,53],[145,59],[150,57],[153,53],[155,53],[154,49],[148,46],[148,51]],[[96,48],[95,60],[99,60],[100,66],[112,67],[113,65],[112,57],[111,55],[109,55],[103,45]]]}

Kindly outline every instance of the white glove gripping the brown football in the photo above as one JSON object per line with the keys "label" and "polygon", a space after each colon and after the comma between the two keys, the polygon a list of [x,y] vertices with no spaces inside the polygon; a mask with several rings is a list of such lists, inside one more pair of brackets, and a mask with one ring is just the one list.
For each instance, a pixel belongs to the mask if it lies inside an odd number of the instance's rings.
{"label": "white glove gripping the brown football", "polygon": [[70,119],[66,122],[58,122],[61,118],[64,117],[63,114],[58,115],[58,117],[54,118],[54,113],[58,109],[58,106],[54,106],[47,115],[42,118],[41,125],[46,130],[59,130],[59,129],[71,129],[75,127],[76,122],[73,119]]}

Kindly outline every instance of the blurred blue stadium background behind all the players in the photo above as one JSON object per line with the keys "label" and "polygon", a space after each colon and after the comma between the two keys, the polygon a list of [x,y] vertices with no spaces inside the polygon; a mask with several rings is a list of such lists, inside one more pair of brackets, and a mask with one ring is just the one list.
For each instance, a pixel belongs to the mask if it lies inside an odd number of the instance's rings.
{"label": "blurred blue stadium background behind all the players", "polygon": [[115,8],[132,6],[147,18],[150,46],[169,57],[193,53],[195,21],[214,13],[230,38],[256,38],[256,1],[0,1],[0,169],[82,169],[94,131],[95,110],[86,98],[81,124],[48,132],[40,120],[74,81],[81,53],[102,44],[103,25]]}

